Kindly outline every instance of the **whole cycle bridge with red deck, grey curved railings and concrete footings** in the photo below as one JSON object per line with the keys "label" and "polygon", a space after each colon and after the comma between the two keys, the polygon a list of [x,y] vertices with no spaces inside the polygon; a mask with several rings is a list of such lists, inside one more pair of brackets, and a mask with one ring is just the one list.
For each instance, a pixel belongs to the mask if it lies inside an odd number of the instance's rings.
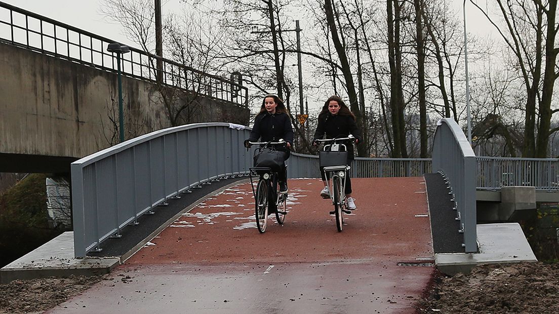
{"label": "whole cycle bridge with red deck, grey curved railings and concrete footings", "polygon": [[51,313],[107,305],[124,312],[402,313],[414,311],[435,264],[456,272],[536,260],[518,224],[476,224],[477,163],[451,119],[438,126],[433,166],[354,163],[358,210],[343,232],[318,196],[318,158],[293,154],[286,222],[258,234],[246,178],[252,151],[242,146],[249,131],[230,123],[174,127],[75,161],[74,231],[50,244],[58,248],[46,244],[4,267],[0,279],[30,278],[39,268],[99,273],[124,263],[113,275],[125,280],[101,282]]}

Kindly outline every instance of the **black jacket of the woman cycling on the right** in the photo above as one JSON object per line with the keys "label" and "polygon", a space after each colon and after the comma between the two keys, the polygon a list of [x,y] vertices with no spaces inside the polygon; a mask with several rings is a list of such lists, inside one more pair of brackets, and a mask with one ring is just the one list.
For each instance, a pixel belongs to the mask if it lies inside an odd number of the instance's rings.
{"label": "black jacket of the woman cycling on the right", "polygon": [[[362,141],[361,130],[357,127],[352,116],[333,116],[328,113],[319,118],[313,141],[322,139],[324,135],[326,135],[326,139],[333,139],[338,136],[346,137],[350,134],[356,137],[359,142]],[[348,159],[354,159],[353,143],[346,141],[344,144],[348,149]]]}

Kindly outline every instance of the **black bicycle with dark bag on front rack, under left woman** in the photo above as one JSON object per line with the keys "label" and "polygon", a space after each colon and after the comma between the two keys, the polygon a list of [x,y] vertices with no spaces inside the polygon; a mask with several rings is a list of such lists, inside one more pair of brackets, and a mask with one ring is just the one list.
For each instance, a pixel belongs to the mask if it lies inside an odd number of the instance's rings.
{"label": "black bicycle with dark bag on front rack, under left woman", "polygon": [[[250,145],[263,145],[254,151],[257,155],[259,151],[268,148],[273,148],[272,145],[283,144],[286,142],[280,140],[278,142],[248,142]],[[268,214],[271,212],[276,213],[276,221],[278,224],[283,225],[285,216],[287,215],[287,194],[280,193],[280,184],[278,182],[278,172],[270,167],[250,167],[250,185],[254,195],[254,207],[256,225],[258,231],[262,234],[266,231]],[[254,189],[253,175],[258,175],[258,184],[256,190]]]}

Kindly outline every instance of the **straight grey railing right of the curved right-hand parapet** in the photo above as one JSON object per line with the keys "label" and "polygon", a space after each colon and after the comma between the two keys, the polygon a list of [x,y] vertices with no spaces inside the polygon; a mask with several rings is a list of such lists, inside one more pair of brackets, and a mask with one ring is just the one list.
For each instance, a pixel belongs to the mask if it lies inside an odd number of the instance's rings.
{"label": "straight grey railing right of the curved right-hand parapet", "polygon": [[477,157],[477,189],[508,186],[559,191],[559,159]]}

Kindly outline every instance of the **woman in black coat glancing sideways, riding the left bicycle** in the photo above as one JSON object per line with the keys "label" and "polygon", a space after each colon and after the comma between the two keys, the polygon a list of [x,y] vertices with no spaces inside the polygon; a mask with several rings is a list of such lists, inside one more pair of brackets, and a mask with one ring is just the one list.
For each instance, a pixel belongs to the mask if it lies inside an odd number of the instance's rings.
{"label": "woman in black coat glancing sideways, riding the left bicycle", "polygon": [[[290,117],[283,101],[276,95],[267,95],[262,101],[260,112],[254,118],[254,126],[250,131],[250,137],[245,140],[245,147],[250,147],[248,142],[255,142],[262,139],[263,142],[277,142],[280,139],[286,141],[286,145],[276,145],[276,149],[285,152],[284,161],[289,158],[290,148],[293,145],[293,129]],[[285,163],[278,173],[280,182],[280,193],[287,193],[287,168]]]}

